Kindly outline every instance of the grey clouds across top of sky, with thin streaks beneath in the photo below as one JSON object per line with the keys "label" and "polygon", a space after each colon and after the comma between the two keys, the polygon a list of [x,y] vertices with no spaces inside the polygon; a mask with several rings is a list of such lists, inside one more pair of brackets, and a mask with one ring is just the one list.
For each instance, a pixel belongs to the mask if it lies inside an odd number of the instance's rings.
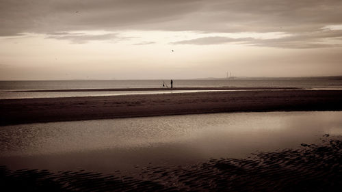
{"label": "grey clouds across top of sky, with thin streaks beneath", "polygon": [[[341,0],[1,0],[0,36],[135,29],[205,33],[282,31],[306,38],[310,36],[309,32],[321,32],[327,25],[342,25],[341,10]],[[61,39],[59,35],[63,34],[56,34]],[[324,35],[321,38],[330,38],[330,33]],[[341,38],[341,34],[338,35],[336,38]],[[106,37],[79,35],[77,38],[84,38],[83,42],[86,42],[87,38],[101,40]],[[62,39],[75,40],[68,34]],[[192,42],[208,44],[218,40]],[[231,41],[221,40],[221,43]],[[273,46],[271,41],[255,44]]]}

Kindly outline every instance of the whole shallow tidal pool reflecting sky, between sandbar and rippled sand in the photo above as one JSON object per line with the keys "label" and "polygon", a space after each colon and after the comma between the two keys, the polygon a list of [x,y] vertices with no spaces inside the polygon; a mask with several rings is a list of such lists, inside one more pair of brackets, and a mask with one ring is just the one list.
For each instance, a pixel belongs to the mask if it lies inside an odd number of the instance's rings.
{"label": "whole shallow tidal pool reflecting sky, between sandbar and rippled sand", "polygon": [[54,156],[56,161],[66,154],[72,157],[62,161],[83,154],[77,162],[96,166],[104,159],[112,165],[240,158],[257,150],[315,143],[326,133],[342,135],[341,117],[342,111],[215,113],[2,126],[1,156],[7,160],[0,164],[12,162],[13,156]]}

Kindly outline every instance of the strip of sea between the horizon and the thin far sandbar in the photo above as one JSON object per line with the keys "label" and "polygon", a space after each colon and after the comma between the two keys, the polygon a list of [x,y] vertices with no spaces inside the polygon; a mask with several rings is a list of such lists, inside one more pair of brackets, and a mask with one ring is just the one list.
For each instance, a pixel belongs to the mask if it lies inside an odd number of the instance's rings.
{"label": "strip of sea between the horizon and the thin far sandbar", "polygon": [[[170,85],[170,81],[164,81]],[[126,81],[0,81],[0,91],[162,87],[163,80]],[[268,80],[174,80],[174,87],[342,87],[342,78]]]}

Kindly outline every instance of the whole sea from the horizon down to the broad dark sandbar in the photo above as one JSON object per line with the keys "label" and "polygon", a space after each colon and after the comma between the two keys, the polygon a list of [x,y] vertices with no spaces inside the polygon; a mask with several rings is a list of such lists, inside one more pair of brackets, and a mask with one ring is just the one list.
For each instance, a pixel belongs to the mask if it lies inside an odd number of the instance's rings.
{"label": "whole sea from the horizon down to the broad dark sandbar", "polygon": [[[172,94],[191,91],[125,91],[125,92],[49,92],[51,90],[87,90],[115,88],[170,87],[170,80],[73,80],[73,81],[0,81],[0,99],[55,98],[75,96],[114,96],[125,94]],[[174,87],[297,87],[311,90],[342,90],[342,77],[250,78],[173,80]],[[44,90],[44,92],[25,92]],[[198,90],[198,92],[205,90]],[[207,91],[211,91],[209,88]]]}

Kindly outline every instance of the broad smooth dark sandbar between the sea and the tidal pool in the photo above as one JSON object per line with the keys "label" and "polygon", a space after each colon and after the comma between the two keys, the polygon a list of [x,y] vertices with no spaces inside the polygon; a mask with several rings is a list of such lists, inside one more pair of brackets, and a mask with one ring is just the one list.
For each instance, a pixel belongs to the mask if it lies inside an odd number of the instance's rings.
{"label": "broad smooth dark sandbar between the sea and the tidal pool", "polygon": [[[211,90],[210,87],[206,88]],[[339,90],[259,90],[0,100],[0,125],[240,111],[340,111]]]}

